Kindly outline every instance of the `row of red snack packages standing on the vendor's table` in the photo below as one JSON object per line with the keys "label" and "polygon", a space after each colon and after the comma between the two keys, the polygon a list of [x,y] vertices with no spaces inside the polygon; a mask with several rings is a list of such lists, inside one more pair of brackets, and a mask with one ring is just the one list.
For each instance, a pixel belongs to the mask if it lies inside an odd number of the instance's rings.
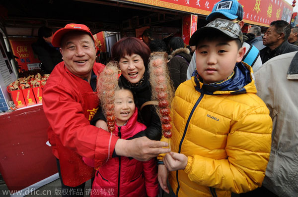
{"label": "row of red snack packages standing on the vendor's table", "polygon": [[42,88],[49,76],[49,74],[41,76],[37,73],[35,76],[22,77],[9,84],[7,92],[10,93],[15,108],[42,103]]}

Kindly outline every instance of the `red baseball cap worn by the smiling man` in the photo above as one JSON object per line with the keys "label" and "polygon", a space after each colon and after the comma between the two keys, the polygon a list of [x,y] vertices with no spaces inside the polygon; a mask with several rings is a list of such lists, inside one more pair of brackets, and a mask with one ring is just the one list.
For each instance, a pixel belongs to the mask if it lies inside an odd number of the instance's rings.
{"label": "red baseball cap worn by the smiling man", "polygon": [[53,35],[53,38],[52,38],[52,45],[54,47],[61,47],[60,45],[61,45],[62,37],[70,31],[86,32],[91,36],[91,38],[93,39],[93,41],[95,43],[94,37],[93,37],[92,33],[90,32],[90,29],[86,25],[70,23],[70,24],[67,24],[64,28],[61,28],[55,32],[55,34]]}

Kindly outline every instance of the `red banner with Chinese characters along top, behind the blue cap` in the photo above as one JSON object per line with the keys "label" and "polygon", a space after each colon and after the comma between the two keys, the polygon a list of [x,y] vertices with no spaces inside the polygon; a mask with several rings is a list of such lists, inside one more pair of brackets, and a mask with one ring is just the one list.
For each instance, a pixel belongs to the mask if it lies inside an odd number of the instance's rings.
{"label": "red banner with Chinese characters along top, behind the blue cap", "polygon": [[[127,0],[201,15],[209,15],[219,0]],[[244,22],[268,27],[270,22],[291,22],[293,7],[285,0],[238,0],[243,6]]]}

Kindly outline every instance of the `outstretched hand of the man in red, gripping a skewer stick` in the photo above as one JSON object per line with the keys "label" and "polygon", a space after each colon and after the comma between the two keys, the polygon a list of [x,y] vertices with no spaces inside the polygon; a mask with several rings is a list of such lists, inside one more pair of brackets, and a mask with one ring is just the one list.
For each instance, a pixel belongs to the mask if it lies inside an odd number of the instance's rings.
{"label": "outstretched hand of the man in red, gripping a skewer stick", "polygon": [[148,161],[158,154],[171,151],[169,148],[162,147],[168,147],[168,143],[141,137],[133,140],[118,139],[115,151],[119,156],[133,157],[139,161]]}

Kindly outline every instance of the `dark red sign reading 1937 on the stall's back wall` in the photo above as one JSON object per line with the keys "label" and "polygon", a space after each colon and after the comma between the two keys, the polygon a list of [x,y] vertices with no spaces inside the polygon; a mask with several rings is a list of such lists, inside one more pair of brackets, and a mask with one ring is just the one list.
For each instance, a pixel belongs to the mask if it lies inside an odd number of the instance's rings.
{"label": "dark red sign reading 1937 on the stall's back wall", "polygon": [[10,46],[16,61],[21,70],[33,70],[40,68],[39,59],[34,56],[31,44],[36,42],[37,38],[9,38]]}

